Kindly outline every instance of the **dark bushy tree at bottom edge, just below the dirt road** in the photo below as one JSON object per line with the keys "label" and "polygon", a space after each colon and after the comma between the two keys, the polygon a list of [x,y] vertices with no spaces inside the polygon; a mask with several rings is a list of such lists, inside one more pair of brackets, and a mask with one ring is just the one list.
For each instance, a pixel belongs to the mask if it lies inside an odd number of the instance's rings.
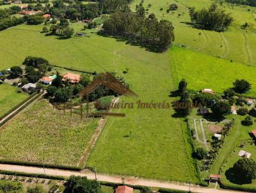
{"label": "dark bushy tree at bottom edge, just below the dirt road", "polygon": [[96,180],[88,180],[86,177],[70,176],[66,183],[67,192],[76,193],[100,193],[100,184]]}

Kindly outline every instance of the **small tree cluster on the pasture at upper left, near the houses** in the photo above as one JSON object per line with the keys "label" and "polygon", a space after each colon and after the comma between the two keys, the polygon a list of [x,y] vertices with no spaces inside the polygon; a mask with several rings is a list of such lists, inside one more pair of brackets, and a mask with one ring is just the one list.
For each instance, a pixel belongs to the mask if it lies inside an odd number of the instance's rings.
{"label": "small tree cluster on the pasture at upper left, near the houses", "polygon": [[66,38],[71,38],[71,36],[74,35],[74,29],[69,27],[69,22],[67,19],[60,19],[60,24],[52,25],[50,27],[50,31],[54,35],[61,35],[65,36]]}

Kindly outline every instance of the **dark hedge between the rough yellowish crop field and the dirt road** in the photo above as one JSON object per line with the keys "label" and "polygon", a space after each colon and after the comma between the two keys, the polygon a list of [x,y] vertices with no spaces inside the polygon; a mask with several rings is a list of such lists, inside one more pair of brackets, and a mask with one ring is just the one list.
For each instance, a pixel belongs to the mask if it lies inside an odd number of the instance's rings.
{"label": "dark hedge between the rough yellowish crop field and the dirt road", "polygon": [[0,164],[45,167],[45,168],[52,168],[52,169],[65,169],[65,170],[70,170],[70,171],[81,171],[82,170],[81,167],[76,167],[76,166],[61,166],[61,165],[43,164],[43,163],[36,163],[36,162],[21,162],[19,160],[0,160]]}

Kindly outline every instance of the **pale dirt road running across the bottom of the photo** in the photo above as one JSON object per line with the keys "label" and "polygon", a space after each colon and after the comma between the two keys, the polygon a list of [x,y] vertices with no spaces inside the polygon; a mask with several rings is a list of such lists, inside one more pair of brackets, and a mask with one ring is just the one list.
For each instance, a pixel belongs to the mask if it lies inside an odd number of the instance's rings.
{"label": "pale dirt road running across the bottom of the photo", "polygon": [[[29,166],[15,166],[15,165],[8,165],[8,164],[0,164],[0,170],[6,171],[16,171],[22,173],[31,173],[31,174],[47,174],[50,176],[65,176],[69,177],[70,175],[76,176],[86,176],[88,179],[93,180],[95,179],[95,174],[90,173],[88,171],[66,171],[61,169],[44,169],[40,167],[29,167]],[[106,174],[97,174],[97,180],[99,181],[108,181],[113,183],[122,183],[123,179],[122,176],[110,176]],[[148,187],[161,187],[166,189],[177,189],[177,190],[189,190],[189,185],[186,183],[171,183],[171,182],[164,182],[164,181],[156,181],[156,180],[147,180],[142,178],[132,178],[132,177],[125,177],[125,183],[130,185],[143,185]],[[232,193],[236,191],[229,191],[229,190],[218,190],[218,189],[207,189],[204,187],[200,187],[197,185],[191,185],[192,192],[200,192],[200,193]]]}

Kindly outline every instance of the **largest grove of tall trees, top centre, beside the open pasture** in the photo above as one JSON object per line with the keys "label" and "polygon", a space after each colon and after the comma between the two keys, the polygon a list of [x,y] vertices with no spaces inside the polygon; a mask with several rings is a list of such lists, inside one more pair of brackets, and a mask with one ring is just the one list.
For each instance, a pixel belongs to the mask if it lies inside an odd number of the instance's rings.
{"label": "largest grove of tall trees, top centre, beside the open pasture", "polygon": [[158,21],[154,14],[145,17],[143,4],[136,13],[115,12],[104,21],[104,33],[126,38],[155,51],[167,50],[174,41],[172,22]]}

